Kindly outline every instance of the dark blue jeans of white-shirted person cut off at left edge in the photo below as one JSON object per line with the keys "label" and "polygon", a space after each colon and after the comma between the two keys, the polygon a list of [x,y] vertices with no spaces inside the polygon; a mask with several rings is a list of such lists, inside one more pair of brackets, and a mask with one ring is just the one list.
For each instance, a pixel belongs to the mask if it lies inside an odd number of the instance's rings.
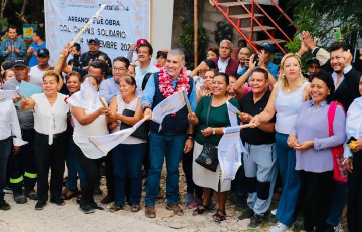
{"label": "dark blue jeans of white-shirted person cut off at left edge", "polygon": [[0,200],[4,199],[4,188],[6,185],[6,168],[12,148],[12,139],[0,142]]}

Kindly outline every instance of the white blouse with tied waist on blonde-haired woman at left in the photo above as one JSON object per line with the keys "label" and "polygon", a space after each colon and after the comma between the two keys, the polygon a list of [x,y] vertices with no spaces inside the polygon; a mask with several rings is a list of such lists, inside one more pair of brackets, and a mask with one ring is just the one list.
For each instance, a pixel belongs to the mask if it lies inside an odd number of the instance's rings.
{"label": "white blouse with tied waist on blonde-haired woman at left", "polygon": [[50,105],[44,93],[36,93],[31,96],[35,101],[34,130],[40,134],[49,135],[49,145],[53,143],[54,134],[59,134],[67,129],[67,117],[69,105],[64,101],[66,95],[58,93],[53,106]]}

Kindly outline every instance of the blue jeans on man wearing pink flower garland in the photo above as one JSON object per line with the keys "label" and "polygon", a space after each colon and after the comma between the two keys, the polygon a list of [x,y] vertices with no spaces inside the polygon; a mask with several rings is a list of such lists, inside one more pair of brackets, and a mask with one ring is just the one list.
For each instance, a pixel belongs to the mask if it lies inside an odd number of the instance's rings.
{"label": "blue jeans on man wearing pink flower garland", "polygon": [[159,192],[163,160],[166,156],[166,198],[168,204],[177,204],[179,195],[178,165],[183,155],[186,135],[165,136],[150,133],[150,163],[146,186],[146,206],[154,206]]}

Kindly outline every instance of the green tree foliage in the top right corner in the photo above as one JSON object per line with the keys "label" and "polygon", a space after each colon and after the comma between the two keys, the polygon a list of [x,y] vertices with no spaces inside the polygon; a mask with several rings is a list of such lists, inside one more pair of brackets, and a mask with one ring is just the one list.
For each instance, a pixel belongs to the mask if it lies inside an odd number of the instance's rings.
{"label": "green tree foliage in the top right corner", "polygon": [[[359,4],[358,4],[359,2]],[[341,28],[346,42],[355,45],[362,36],[362,7],[360,1],[343,0],[291,0],[294,23],[300,31],[309,31],[319,39],[319,44],[333,41],[333,28]]]}

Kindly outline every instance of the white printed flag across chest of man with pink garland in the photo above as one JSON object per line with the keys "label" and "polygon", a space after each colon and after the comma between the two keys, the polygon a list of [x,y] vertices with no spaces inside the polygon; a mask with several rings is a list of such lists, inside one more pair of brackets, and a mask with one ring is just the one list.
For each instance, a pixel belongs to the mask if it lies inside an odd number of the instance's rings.
{"label": "white printed flag across chest of man with pink garland", "polygon": [[[173,95],[167,97],[161,101],[152,111],[152,121],[160,125],[159,130],[161,130],[161,125],[164,117],[168,114],[176,113],[178,110],[182,109],[186,105],[185,90],[174,93]],[[186,97],[186,99],[188,99]]]}

